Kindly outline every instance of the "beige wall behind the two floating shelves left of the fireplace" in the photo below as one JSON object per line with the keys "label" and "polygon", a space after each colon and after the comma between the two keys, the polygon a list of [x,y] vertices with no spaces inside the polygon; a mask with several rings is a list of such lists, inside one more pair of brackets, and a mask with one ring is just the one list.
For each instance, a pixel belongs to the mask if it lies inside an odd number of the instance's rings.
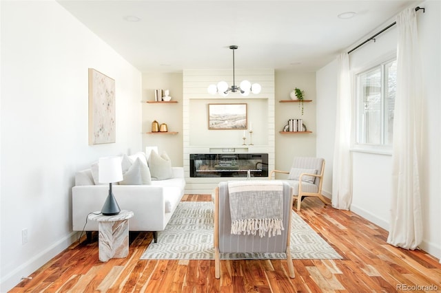
{"label": "beige wall behind the two floating shelves left of the fireplace", "polygon": [[[173,166],[183,166],[183,81],[181,73],[143,74],[143,149],[158,146],[158,152],[165,151]],[[147,104],[154,101],[155,89],[169,89],[172,100],[177,104]],[[178,134],[147,134],[152,131],[152,122],[167,124],[168,131]]]}

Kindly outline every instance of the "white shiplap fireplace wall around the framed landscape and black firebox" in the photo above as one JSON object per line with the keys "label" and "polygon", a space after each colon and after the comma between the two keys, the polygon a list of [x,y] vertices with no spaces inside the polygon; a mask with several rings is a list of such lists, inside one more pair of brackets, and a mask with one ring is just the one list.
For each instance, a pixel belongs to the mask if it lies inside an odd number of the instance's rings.
{"label": "white shiplap fireplace wall around the framed landscape and black firebox", "polygon": [[[235,83],[247,79],[262,86],[260,94],[244,97],[230,93],[227,97],[210,95],[207,87],[225,80],[231,87],[232,70],[184,70],[183,71],[183,166],[186,193],[211,193],[218,182],[232,178],[190,178],[190,153],[219,153],[234,149],[236,153],[268,153],[268,169],[275,164],[274,130],[274,69],[236,69]],[[246,131],[246,146],[243,146],[243,130],[208,130],[209,103],[247,103],[248,130],[252,122],[252,143]]]}

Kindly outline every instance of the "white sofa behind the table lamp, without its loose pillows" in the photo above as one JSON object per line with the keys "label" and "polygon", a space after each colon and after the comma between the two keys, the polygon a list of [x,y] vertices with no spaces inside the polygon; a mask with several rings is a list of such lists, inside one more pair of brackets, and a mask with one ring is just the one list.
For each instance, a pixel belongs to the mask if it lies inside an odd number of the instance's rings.
{"label": "white sofa behind the table lamp, without its loose pillows", "polygon": [[[130,231],[152,231],[154,241],[157,241],[157,232],[165,229],[184,195],[183,167],[172,167],[172,172],[172,178],[152,180],[150,185],[112,186],[121,210],[134,212],[134,217],[129,221]],[[94,185],[92,169],[77,172],[75,182],[76,186],[72,188],[73,230],[97,231],[98,223],[87,221],[86,224],[86,219],[89,213],[101,210],[109,193],[109,185]],[[79,182],[82,185],[78,185]]]}

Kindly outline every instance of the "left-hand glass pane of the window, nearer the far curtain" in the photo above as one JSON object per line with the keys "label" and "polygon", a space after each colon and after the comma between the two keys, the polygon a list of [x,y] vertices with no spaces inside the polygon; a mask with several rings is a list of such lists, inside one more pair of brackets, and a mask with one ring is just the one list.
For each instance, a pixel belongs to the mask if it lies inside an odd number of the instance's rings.
{"label": "left-hand glass pane of the window, nearer the far curtain", "polygon": [[361,143],[381,144],[381,81],[380,67],[360,75]]}

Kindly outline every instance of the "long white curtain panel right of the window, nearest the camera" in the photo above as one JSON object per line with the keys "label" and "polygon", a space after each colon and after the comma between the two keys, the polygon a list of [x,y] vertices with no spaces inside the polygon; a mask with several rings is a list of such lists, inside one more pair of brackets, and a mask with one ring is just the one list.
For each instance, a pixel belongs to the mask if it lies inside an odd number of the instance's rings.
{"label": "long white curtain panel right of the window, nearest the camera", "polygon": [[397,91],[393,120],[392,202],[387,243],[414,250],[422,241],[422,78],[416,11],[397,16]]}

